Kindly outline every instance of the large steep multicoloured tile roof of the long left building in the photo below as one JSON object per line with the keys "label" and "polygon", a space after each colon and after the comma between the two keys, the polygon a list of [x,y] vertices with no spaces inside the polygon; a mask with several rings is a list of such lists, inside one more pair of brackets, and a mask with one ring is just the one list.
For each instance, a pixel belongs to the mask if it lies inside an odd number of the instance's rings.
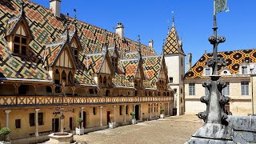
{"label": "large steep multicoloured tile roof of the long left building", "polygon": [[[108,55],[102,49],[107,41],[115,43],[118,51],[118,71],[113,81],[116,86],[132,86],[126,78],[135,78],[138,71],[139,55],[138,46],[141,47],[142,56],[155,56],[153,48],[134,42],[129,38],[120,38],[118,34],[92,26],[62,14],[62,18],[55,18],[51,10],[39,6],[29,0],[24,0],[24,12],[21,13],[21,0],[0,0],[0,76],[3,78],[25,78],[30,80],[44,80],[50,82],[50,75],[44,66],[52,66],[58,55],[66,45],[66,30],[63,26],[65,18],[70,19],[70,40],[77,34],[79,45],[82,47],[78,55],[78,69],[74,78],[75,82],[84,85],[94,85],[94,78],[90,73],[97,73],[106,57],[114,55],[114,47],[110,46]],[[32,39],[29,44],[29,56],[19,58],[10,54],[8,43],[4,37],[11,34],[18,22],[23,18],[30,30]],[[76,23],[76,25],[74,25]],[[6,34],[6,35],[4,35]],[[176,34],[176,32],[175,32]],[[114,37],[117,38],[114,40]],[[178,36],[177,36],[178,38]],[[122,60],[120,60],[122,59]],[[26,61],[25,61],[26,60]],[[150,79],[145,82],[145,87],[152,88],[158,74],[158,56],[146,58],[142,66],[144,75]],[[152,61],[156,61],[155,65]],[[44,66],[43,66],[44,65]],[[81,70],[84,70],[83,72]]]}

